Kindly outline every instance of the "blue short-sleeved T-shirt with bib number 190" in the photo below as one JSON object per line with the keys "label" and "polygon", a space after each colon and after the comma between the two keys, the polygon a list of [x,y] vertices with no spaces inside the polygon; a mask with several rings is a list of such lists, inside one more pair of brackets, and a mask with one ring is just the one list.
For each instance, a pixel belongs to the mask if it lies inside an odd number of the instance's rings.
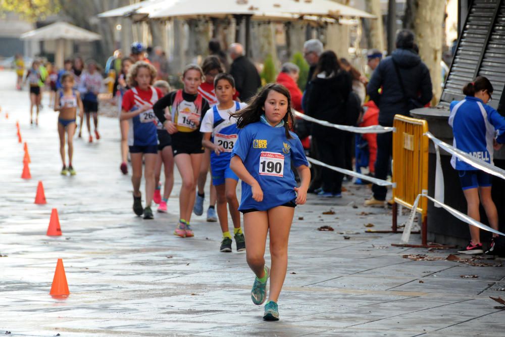
{"label": "blue short-sleeved T-shirt with bib number 190", "polygon": [[242,199],[239,210],[267,211],[296,199],[294,167],[309,166],[304,148],[296,134],[287,139],[283,127],[273,127],[262,122],[247,125],[238,134],[232,156],[238,156],[247,171],[263,190],[261,203],[252,199],[251,186],[242,181]]}

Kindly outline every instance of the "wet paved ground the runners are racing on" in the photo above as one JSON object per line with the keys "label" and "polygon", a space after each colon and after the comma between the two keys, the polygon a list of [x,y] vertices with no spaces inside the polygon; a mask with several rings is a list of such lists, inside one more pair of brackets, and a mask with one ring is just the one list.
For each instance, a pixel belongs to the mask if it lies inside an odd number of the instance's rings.
{"label": "wet paved ground the runners are racing on", "polygon": [[[30,126],[28,93],[15,91],[14,83],[14,73],[0,72],[0,333],[503,335],[505,312],[489,299],[505,297],[501,260],[483,258],[471,265],[444,259],[456,250],[392,247],[400,234],[365,233],[389,229],[391,211],[363,207],[369,188],[351,183],[342,199],[311,195],[307,205],[296,208],[281,320],[262,321],[263,308],[250,301],[254,276],[245,254],[219,252],[218,223],[193,216],[195,237],[172,235],[177,172],[169,213],[150,221],[134,216],[130,176],[119,171],[118,120],[100,118],[99,141],[75,139],[77,175],[63,177],[57,113],[44,97],[39,126]],[[17,120],[31,157],[29,180],[20,178]],[[39,180],[46,205],[33,203]],[[52,208],[58,209],[62,236],[45,235]],[[329,210],[335,214],[323,214]],[[373,227],[365,227],[369,223]],[[320,226],[334,231],[318,231]],[[413,234],[411,243],[419,244],[419,235]],[[439,259],[419,260],[419,254]],[[70,288],[65,299],[49,296],[58,258]]]}

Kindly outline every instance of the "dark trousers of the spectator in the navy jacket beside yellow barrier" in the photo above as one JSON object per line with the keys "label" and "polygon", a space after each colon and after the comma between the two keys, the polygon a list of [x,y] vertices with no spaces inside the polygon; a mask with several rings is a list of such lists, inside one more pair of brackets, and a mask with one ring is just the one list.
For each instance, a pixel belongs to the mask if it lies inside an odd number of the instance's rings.
{"label": "dark trousers of the spectator in the navy jacket beside yellow barrier", "polygon": [[[375,161],[375,177],[386,180],[389,167],[391,165],[391,156],[393,155],[393,133],[377,134],[377,159]],[[374,198],[377,200],[386,200],[387,187],[374,184],[372,186]]]}

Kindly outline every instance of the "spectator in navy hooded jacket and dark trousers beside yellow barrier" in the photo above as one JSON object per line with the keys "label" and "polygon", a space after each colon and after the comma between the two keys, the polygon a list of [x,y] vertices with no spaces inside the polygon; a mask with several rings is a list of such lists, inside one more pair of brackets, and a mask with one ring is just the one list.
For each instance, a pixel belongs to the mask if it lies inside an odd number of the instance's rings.
{"label": "spectator in navy hooded jacket and dark trousers beside yellow barrier", "polygon": [[[392,126],[394,115],[409,116],[411,109],[423,107],[433,97],[428,67],[414,51],[414,34],[407,29],[399,31],[396,48],[391,57],[379,63],[367,85],[370,100],[379,107],[379,124],[382,126]],[[377,134],[376,178],[385,180],[387,177],[392,137],[391,132]],[[372,190],[373,198],[365,205],[383,205],[387,188],[373,185]]]}

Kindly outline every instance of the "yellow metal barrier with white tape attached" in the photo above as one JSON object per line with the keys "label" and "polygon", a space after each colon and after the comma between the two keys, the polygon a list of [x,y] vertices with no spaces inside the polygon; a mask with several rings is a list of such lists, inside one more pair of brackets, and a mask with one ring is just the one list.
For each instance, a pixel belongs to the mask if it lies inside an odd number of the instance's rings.
{"label": "yellow metal barrier with white tape attached", "polygon": [[[393,121],[393,231],[397,226],[397,204],[412,209],[419,194],[428,191],[428,122],[395,115]],[[422,244],[426,245],[428,200],[421,198],[417,212],[422,216]]]}

